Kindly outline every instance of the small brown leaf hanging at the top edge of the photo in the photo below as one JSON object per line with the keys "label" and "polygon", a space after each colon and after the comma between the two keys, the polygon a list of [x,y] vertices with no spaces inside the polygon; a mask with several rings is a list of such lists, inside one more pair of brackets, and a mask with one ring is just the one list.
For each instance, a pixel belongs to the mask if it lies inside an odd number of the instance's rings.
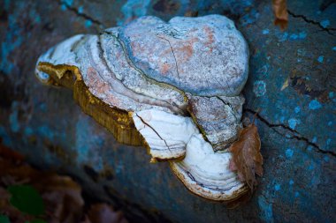
{"label": "small brown leaf hanging at the top edge of the photo", "polygon": [[275,16],[274,25],[280,26],[281,30],[288,25],[288,11],[286,0],[272,0],[272,8]]}

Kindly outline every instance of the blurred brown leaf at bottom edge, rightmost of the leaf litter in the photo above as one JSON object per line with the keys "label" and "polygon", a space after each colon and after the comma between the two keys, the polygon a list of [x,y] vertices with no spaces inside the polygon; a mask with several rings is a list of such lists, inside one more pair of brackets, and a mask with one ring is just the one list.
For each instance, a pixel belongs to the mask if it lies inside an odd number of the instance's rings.
{"label": "blurred brown leaf at bottom edge, rightmost of the leaf litter", "polygon": [[115,212],[108,204],[91,205],[88,211],[88,222],[92,223],[127,223],[122,212]]}

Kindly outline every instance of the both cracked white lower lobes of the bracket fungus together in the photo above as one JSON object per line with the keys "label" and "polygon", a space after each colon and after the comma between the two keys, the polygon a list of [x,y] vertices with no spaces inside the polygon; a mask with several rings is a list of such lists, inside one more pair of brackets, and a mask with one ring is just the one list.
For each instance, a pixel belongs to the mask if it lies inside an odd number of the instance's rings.
{"label": "both cracked white lower lobes of the bracket fungus together", "polygon": [[229,169],[231,153],[213,152],[191,118],[145,110],[134,113],[133,119],[149,144],[152,157],[169,159],[186,155],[182,161],[172,161],[171,167],[195,194],[228,200],[234,192],[244,188],[244,183]]}

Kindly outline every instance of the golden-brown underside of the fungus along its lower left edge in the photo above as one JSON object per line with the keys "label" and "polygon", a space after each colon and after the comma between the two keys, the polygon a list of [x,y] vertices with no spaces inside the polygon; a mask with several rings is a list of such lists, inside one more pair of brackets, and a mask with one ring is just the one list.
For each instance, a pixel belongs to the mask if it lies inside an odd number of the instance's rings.
{"label": "golden-brown underside of the fungus along its lower left edge", "polygon": [[37,69],[50,75],[48,85],[65,86],[73,89],[73,98],[83,111],[95,121],[111,131],[119,143],[126,145],[145,145],[144,138],[136,130],[133,119],[128,112],[111,108],[88,91],[88,86],[81,78],[76,66],[41,62]]}

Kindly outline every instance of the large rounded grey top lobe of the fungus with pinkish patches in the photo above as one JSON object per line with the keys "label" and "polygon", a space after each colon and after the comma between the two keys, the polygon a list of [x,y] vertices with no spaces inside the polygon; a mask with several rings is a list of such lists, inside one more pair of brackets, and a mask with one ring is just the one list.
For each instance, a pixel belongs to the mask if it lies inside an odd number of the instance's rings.
{"label": "large rounded grey top lobe of the fungus with pinkish patches", "polygon": [[220,15],[142,17],[120,28],[134,65],[149,78],[199,96],[236,96],[248,78],[248,44]]}

